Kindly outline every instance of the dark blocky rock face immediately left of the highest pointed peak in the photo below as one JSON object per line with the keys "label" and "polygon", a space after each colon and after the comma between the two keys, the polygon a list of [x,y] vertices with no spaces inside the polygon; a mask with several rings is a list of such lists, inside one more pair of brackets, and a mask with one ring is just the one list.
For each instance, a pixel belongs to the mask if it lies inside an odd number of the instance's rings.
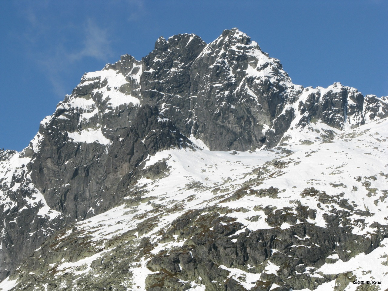
{"label": "dark blocky rock face immediately left of the highest pointed peak", "polygon": [[175,35],[168,42],[161,37],[155,50],[142,59],[142,101],[157,106],[188,137],[192,124],[190,69],[205,45],[196,35]]}

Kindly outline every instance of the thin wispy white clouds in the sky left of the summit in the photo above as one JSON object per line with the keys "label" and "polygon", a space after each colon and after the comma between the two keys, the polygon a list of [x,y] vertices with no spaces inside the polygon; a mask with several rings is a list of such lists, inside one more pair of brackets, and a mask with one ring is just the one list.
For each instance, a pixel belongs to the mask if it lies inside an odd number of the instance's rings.
{"label": "thin wispy white clouds in the sky left of the summit", "polygon": [[[127,11],[127,20],[136,22],[145,15],[144,0],[117,0],[116,5]],[[29,26],[19,42],[26,48],[31,59],[45,73],[52,84],[52,90],[59,98],[70,93],[65,85],[69,72],[74,71],[77,62],[87,58],[108,62],[113,55],[111,36],[106,27],[93,18],[83,22],[62,23],[53,26],[51,13],[42,13],[49,9],[48,0],[39,5],[17,5],[24,14]],[[56,25],[56,24],[55,24]]]}

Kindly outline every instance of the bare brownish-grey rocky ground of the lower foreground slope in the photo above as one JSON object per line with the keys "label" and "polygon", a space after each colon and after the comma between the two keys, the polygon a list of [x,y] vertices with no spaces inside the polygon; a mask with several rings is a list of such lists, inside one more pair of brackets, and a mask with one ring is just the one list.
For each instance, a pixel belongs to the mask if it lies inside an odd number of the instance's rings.
{"label": "bare brownish-grey rocky ground of the lower foreground slope", "polygon": [[[154,168],[161,169],[163,164],[166,161],[155,164]],[[286,165],[275,161],[272,166],[279,169]],[[277,199],[279,189],[274,187],[254,190],[263,178],[258,176],[250,179],[242,188],[223,196],[216,204],[237,201],[244,196]],[[143,194],[134,193],[132,206],[146,203],[140,198]],[[259,230],[249,230],[236,222],[233,211],[228,207],[210,206],[185,211],[168,222],[167,227],[157,235],[157,242],[152,239],[155,234],[150,233],[158,228],[156,222],[162,218],[159,215],[165,211],[163,208],[166,205],[154,204],[154,210],[148,213],[146,220],[128,232],[104,240],[102,245],[94,240],[94,232],[100,231],[98,228],[88,231],[82,224],[67,227],[50,237],[41,249],[27,258],[18,271],[18,288],[40,290],[40,286],[31,284],[38,281],[50,291],[73,288],[101,290],[109,287],[116,290],[139,289],[130,283],[136,281],[131,269],[142,258],[147,259],[147,269],[142,272],[149,272],[144,288],[152,291],[187,290],[195,284],[214,291],[268,290],[276,286],[281,290],[298,290],[315,289],[331,281],[341,282],[341,286],[346,287],[355,279],[352,272],[336,274],[333,270],[334,274],[324,274],[314,271],[324,263],[332,264],[337,260],[348,262],[360,253],[371,253],[388,237],[388,229],[379,225],[377,232],[370,236],[353,234],[354,225],[344,225],[343,221],[357,210],[341,199],[341,194],[333,196],[310,187],[304,189],[300,197],[314,197],[319,203],[338,206],[338,210],[334,208],[330,215],[324,216],[327,227],[312,223],[316,220],[316,210],[301,202],[295,211],[291,208],[278,210],[275,206],[265,207],[266,221],[272,228]],[[260,199],[256,201],[260,203]],[[239,211],[248,210],[241,208]],[[252,217],[251,221],[258,219]],[[282,227],[284,224],[289,224],[289,227]],[[177,245],[174,248],[158,247],[158,244],[166,245],[175,241]],[[100,256],[91,258],[90,253]],[[332,254],[338,255],[338,258],[331,258]],[[92,261],[92,272],[83,276],[68,272],[61,266],[63,260],[79,262],[83,259]],[[275,267],[275,271],[265,271],[268,266]],[[230,270],[239,270],[241,274],[250,274],[251,277],[233,277]],[[77,269],[77,272],[85,272],[85,266]],[[243,282],[252,287],[247,288]],[[372,286],[368,288],[373,289]]]}

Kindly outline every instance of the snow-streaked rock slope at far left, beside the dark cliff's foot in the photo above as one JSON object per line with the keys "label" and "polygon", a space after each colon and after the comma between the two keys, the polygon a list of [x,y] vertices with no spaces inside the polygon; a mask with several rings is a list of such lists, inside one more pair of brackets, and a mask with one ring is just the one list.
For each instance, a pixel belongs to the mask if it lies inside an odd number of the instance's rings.
{"label": "snow-streaked rock slope at far left, beside the dark cliff's foot", "polygon": [[60,213],[47,207],[33,185],[28,161],[17,152],[0,151],[0,280],[62,225]]}

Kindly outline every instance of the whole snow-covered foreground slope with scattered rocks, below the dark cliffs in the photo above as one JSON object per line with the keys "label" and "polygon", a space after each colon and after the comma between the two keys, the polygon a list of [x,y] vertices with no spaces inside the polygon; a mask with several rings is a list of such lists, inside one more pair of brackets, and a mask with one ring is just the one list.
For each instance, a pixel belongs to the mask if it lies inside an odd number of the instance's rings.
{"label": "whole snow-covered foreground slope with scattered rocks, below the dark cliffs", "polygon": [[356,279],[384,283],[387,139],[384,119],[313,145],[158,152],[135,194],[58,232],[3,286],[356,290]]}

